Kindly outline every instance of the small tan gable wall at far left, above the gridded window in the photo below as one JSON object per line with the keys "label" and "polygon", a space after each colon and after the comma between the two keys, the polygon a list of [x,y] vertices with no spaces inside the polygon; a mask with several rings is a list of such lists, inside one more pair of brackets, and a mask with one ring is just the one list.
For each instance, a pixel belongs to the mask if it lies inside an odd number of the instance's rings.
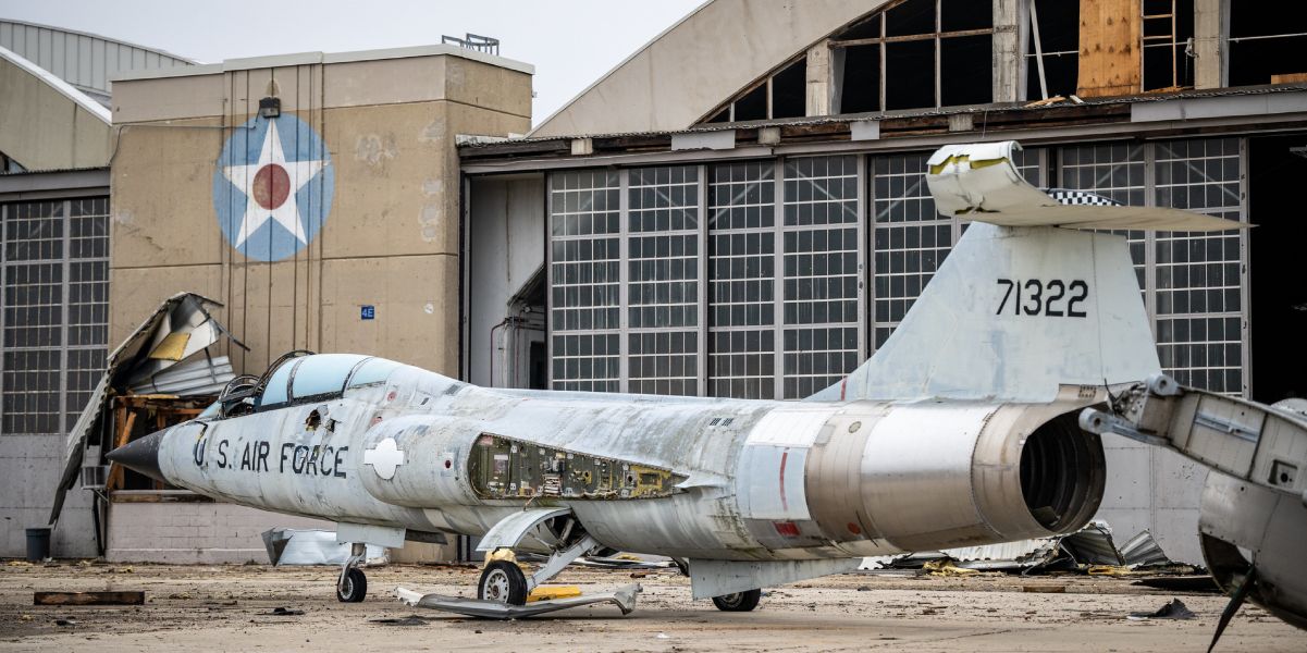
{"label": "small tan gable wall at far left, above the gridded window", "polygon": [[27,170],[108,165],[110,125],[0,57],[0,151]]}

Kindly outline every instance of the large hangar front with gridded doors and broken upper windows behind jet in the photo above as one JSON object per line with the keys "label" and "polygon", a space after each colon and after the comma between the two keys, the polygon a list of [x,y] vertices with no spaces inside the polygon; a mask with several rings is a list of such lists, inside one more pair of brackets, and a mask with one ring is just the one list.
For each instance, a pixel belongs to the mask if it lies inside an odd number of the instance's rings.
{"label": "large hangar front with gridded doors and broken upper windows behind jet", "polygon": [[[468,379],[769,398],[838,383],[966,226],[935,212],[925,158],[1014,138],[1036,185],[1257,223],[1132,235],[1141,298],[1182,383],[1303,396],[1307,291],[1285,279],[1307,12],[1165,4],[704,4],[527,138],[460,148]],[[1205,471],[1106,444],[1099,517],[1201,560]]]}

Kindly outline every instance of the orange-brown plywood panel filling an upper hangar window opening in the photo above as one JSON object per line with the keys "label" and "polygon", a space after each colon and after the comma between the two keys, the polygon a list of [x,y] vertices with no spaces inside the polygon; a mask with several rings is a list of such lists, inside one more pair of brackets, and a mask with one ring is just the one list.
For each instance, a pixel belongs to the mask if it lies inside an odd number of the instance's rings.
{"label": "orange-brown plywood panel filling an upper hangar window opening", "polygon": [[1081,0],[1077,95],[1140,93],[1138,0]]}

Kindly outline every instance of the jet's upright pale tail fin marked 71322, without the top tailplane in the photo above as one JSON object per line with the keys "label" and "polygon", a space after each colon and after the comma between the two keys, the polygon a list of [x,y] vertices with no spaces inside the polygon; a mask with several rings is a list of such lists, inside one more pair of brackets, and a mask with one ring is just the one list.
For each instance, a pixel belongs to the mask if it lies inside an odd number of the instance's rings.
{"label": "jet's upright pale tail fin marked 71322, without the top tailplane", "polygon": [[1157,371],[1124,238],[976,222],[876,355],[813,398],[1051,401]]}

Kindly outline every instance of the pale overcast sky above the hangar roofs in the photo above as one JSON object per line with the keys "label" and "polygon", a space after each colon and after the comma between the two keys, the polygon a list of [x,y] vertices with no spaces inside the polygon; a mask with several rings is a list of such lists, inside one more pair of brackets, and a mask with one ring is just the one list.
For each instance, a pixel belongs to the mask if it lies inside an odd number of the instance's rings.
{"label": "pale overcast sky above the hangar roofs", "polygon": [[41,22],[201,63],[286,52],[501,40],[536,67],[538,124],[702,0],[0,0],[0,17]]}

